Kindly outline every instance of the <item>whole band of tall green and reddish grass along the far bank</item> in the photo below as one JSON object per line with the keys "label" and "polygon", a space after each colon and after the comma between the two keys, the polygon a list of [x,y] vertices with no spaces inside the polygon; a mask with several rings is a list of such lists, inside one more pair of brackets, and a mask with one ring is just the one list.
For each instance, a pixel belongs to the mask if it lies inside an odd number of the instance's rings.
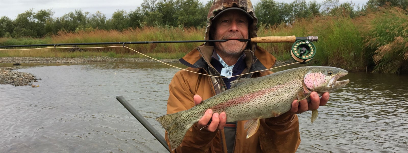
{"label": "whole band of tall green and reddish grass along the far bank", "polygon": [[[383,7],[357,18],[322,16],[299,19],[291,25],[267,27],[260,24],[258,36],[317,35],[315,65],[333,66],[349,71],[372,69],[384,73],[408,72],[408,11]],[[74,42],[125,42],[203,40],[203,28],[144,27],[124,31],[91,30],[67,33],[60,31],[42,39],[0,38],[0,45],[54,44]],[[153,58],[182,58],[201,43],[163,43],[126,45]],[[278,60],[290,60],[292,43],[258,44]],[[92,45],[80,47],[102,47]],[[114,45],[118,46],[118,45]],[[119,45],[120,46],[120,45]],[[123,47],[83,49],[40,49],[29,51],[0,51],[0,57],[92,57],[145,58]]]}

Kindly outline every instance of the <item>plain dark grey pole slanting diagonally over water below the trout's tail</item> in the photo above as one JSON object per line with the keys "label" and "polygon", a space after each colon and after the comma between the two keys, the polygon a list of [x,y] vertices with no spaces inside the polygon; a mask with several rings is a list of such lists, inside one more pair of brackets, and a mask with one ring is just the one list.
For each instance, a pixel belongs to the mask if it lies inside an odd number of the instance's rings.
{"label": "plain dark grey pole slanting diagonally over water below the trout's tail", "polygon": [[153,128],[153,126],[143,118],[142,114],[136,111],[135,108],[127,100],[123,98],[123,96],[116,96],[116,100],[118,100],[125,108],[170,152],[169,146],[167,145],[166,140],[164,137],[160,135],[160,133]]}

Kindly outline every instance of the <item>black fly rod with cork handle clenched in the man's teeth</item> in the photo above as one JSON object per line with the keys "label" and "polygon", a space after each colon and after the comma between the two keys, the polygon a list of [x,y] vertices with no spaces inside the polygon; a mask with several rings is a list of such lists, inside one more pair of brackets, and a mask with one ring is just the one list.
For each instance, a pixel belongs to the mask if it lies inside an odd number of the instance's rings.
{"label": "black fly rod with cork handle clenched in the man's teeth", "polygon": [[[240,39],[242,42],[257,42],[257,43],[279,43],[279,42],[295,42],[296,40],[308,40],[310,42],[317,41],[317,36],[295,37],[292,36],[269,36],[269,37],[255,37],[251,39]],[[142,41],[142,42],[89,42],[89,43],[65,43],[65,44],[25,44],[25,45],[9,45],[0,46],[6,47],[40,47],[40,46],[68,46],[68,45],[98,45],[98,44],[158,44],[158,43],[186,43],[186,42],[226,42],[228,40],[180,40],[180,41]]]}

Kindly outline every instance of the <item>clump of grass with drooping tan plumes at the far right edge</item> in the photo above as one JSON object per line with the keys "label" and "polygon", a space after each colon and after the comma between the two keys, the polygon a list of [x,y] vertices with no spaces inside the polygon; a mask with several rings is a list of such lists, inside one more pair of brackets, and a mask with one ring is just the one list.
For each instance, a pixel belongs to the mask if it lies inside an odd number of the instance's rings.
{"label": "clump of grass with drooping tan plumes at the far right edge", "polygon": [[367,16],[364,47],[373,55],[373,71],[408,72],[408,11],[384,7]]}

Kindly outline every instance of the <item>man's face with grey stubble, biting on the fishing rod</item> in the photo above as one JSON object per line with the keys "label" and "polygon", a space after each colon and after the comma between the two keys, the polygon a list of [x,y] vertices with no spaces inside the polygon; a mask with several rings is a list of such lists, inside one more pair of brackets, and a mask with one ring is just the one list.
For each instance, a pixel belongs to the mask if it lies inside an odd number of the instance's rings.
{"label": "man's face with grey stubble, biting on the fishing rod", "polygon": [[230,39],[248,39],[248,18],[242,11],[231,10],[224,12],[215,20],[214,40],[228,40],[215,42],[215,49],[227,55],[240,56],[246,48],[246,42]]}

